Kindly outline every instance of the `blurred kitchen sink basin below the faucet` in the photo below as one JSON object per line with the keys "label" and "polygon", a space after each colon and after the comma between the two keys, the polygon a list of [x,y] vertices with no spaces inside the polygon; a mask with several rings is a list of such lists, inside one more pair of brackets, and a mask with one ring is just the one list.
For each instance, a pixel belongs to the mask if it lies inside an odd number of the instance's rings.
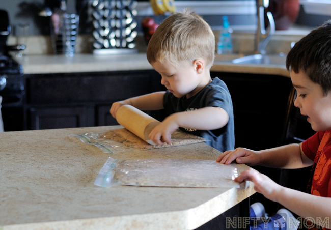
{"label": "blurred kitchen sink basin below the faucet", "polygon": [[265,64],[265,65],[285,65],[286,55],[262,55],[255,54],[233,59],[234,64]]}

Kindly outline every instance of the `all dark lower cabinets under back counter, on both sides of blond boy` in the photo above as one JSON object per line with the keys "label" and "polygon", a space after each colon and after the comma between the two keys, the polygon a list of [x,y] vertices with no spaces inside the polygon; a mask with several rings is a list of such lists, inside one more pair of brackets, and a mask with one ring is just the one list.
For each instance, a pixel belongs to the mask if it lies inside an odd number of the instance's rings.
{"label": "all dark lower cabinets under back counter, on both sides of blond boy", "polygon": [[[231,93],[236,147],[279,146],[292,89],[290,78],[224,72],[211,72],[211,76],[224,80]],[[117,125],[109,113],[113,102],[164,90],[154,70],[33,74],[24,75],[24,81],[23,104],[15,107],[20,118],[13,116],[13,108],[3,106],[9,111],[4,113],[12,114],[4,117],[6,131]],[[160,121],[164,118],[162,112],[150,114]]]}

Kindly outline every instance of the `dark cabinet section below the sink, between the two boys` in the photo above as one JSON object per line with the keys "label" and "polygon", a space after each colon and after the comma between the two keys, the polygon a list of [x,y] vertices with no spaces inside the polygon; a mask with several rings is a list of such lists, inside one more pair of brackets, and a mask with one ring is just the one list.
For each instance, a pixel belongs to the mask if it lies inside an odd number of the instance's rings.
{"label": "dark cabinet section below the sink, between the two boys", "polygon": [[277,75],[212,72],[228,86],[234,109],[235,146],[280,146],[286,129],[291,79]]}

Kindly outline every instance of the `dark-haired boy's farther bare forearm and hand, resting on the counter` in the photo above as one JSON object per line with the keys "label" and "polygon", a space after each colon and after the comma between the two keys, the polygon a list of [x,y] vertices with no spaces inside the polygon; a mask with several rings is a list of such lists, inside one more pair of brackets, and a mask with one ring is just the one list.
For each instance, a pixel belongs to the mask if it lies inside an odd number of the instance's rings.
{"label": "dark-haired boy's farther bare forearm and hand, resting on the counter", "polygon": [[310,166],[313,164],[313,161],[302,151],[301,145],[302,143],[290,144],[261,151],[237,148],[233,151],[222,153],[216,161],[230,164],[236,160],[237,163],[275,168],[302,168]]}

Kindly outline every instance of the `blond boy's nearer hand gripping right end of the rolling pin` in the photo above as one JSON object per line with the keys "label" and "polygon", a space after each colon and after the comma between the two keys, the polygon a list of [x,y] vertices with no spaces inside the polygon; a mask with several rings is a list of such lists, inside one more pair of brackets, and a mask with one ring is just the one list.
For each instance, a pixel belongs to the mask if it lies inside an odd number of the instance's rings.
{"label": "blond boy's nearer hand gripping right end of the rolling pin", "polygon": [[149,134],[149,138],[157,145],[163,145],[164,142],[170,145],[171,134],[179,128],[175,120],[175,114],[176,113],[164,119],[161,124],[156,126]]}

